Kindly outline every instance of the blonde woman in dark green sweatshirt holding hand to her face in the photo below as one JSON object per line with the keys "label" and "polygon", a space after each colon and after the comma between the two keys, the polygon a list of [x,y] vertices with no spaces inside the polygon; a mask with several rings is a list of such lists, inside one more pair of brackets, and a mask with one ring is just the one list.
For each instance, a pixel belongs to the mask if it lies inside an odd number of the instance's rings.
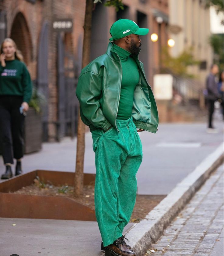
{"label": "blonde woman in dark green sweatshirt holding hand to her face", "polygon": [[0,56],[0,136],[5,173],[2,179],[12,177],[11,165],[16,159],[15,175],[22,173],[23,126],[32,95],[30,74],[15,42],[6,38]]}

